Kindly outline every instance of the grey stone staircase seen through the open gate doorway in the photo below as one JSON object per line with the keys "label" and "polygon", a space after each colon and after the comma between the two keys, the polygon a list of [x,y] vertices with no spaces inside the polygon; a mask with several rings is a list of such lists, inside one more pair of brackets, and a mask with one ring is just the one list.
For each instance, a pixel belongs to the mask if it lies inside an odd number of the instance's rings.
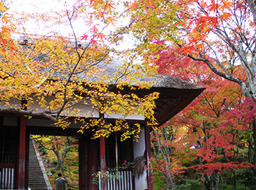
{"label": "grey stone staircase seen through the open gate doorway", "polygon": [[51,187],[47,187],[47,184],[44,179],[40,162],[37,159],[37,152],[35,151],[33,141],[30,141],[29,145],[29,166],[28,166],[28,187],[31,190],[51,190]]}

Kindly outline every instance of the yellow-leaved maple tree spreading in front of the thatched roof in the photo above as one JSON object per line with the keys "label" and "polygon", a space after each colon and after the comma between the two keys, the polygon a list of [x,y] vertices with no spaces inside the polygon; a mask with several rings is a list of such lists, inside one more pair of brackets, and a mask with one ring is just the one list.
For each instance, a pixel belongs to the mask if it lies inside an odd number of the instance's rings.
{"label": "yellow-leaved maple tree spreading in front of the thatched roof", "polygon": [[[152,124],[155,123],[153,100],[157,98],[157,92],[144,97],[122,92],[125,86],[130,89],[150,87],[138,80],[149,73],[150,67],[142,67],[128,59],[116,64],[114,56],[118,52],[107,42],[101,42],[105,40],[103,28],[114,21],[112,4],[105,3],[95,8],[98,4],[78,1],[75,6],[66,6],[56,12],[9,12],[12,20],[6,15],[1,17],[1,113],[28,118],[40,116],[62,128],[70,125],[70,116],[76,116],[76,122],[82,123],[80,132],[100,126],[94,129],[94,137],[108,136],[123,125],[127,129],[123,139],[126,135],[136,136],[140,131],[140,128],[128,129],[124,121],[126,116],[144,115]],[[87,22],[87,33],[76,33],[74,23],[80,18]],[[94,24],[92,18],[105,25]],[[26,28],[29,26],[26,23],[31,20],[37,23],[37,30]],[[16,28],[9,26],[7,29],[6,22]],[[64,26],[69,27],[71,33],[65,37],[56,32],[56,28]],[[18,34],[20,38],[11,34]],[[114,67],[112,62],[116,64]],[[87,121],[88,117],[94,117],[94,111],[84,113],[82,105],[109,116],[120,113],[122,118],[114,124],[102,119]]]}

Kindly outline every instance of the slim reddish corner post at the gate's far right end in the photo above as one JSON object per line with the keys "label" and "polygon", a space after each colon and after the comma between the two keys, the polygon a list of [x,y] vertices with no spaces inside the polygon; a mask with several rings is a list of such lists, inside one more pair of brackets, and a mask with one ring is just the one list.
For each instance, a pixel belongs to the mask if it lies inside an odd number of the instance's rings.
{"label": "slim reddish corner post at the gate's far right end", "polygon": [[148,190],[153,190],[153,173],[151,163],[151,127],[145,125],[145,145],[146,145],[146,177],[148,182]]}

